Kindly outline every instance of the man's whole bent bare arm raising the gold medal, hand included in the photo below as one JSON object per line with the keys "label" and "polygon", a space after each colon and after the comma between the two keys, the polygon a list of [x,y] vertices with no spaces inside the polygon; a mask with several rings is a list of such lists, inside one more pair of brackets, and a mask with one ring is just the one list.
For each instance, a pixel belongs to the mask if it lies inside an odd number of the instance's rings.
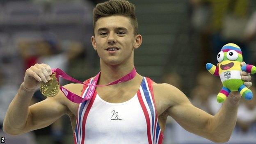
{"label": "man's whole bent bare arm raising the gold medal, hand included", "polygon": [[[50,66],[45,64],[37,64],[27,69],[24,82],[8,107],[3,123],[5,133],[19,135],[43,128],[69,112],[65,104],[68,100],[61,91],[55,97],[46,98],[46,100],[29,107],[34,91],[40,86],[40,79],[47,81],[46,78],[50,74]],[[75,84],[65,87],[71,88],[73,85]]]}

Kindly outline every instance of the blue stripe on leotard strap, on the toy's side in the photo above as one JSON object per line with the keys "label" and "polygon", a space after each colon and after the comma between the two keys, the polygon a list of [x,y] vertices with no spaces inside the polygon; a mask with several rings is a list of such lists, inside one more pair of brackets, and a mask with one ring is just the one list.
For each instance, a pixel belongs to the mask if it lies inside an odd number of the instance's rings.
{"label": "blue stripe on leotard strap, on the toy's side", "polygon": [[150,109],[150,112],[151,112],[151,116],[152,116],[152,136],[153,136],[153,141],[154,141],[154,139],[155,139],[155,137],[154,137],[154,123],[155,123],[155,115],[154,115],[154,109],[153,109],[153,105],[152,105],[152,103],[151,103],[151,99],[150,99],[150,97],[149,97],[149,91],[147,90],[147,87],[146,87],[146,82],[145,82],[145,78],[143,78],[143,82],[142,82],[143,84],[142,84],[142,89],[143,89],[143,93],[144,93],[144,96],[145,96],[145,98],[146,98],[146,101],[147,101],[147,103],[148,103],[148,105],[149,105],[149,109]]}

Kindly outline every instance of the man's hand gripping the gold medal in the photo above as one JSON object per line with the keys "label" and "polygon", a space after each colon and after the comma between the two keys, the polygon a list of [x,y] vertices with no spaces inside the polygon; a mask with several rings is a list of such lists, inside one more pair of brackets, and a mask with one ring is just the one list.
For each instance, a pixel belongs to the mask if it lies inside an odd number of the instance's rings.
{"label": "man's hand gripping the gold medal", "polygon": [[52,69],[49,65],[35,64],[26,70],[22,85],[26,91],[36,91],[40,87],[41,81],[48,82],[50,80],[51,74]]}

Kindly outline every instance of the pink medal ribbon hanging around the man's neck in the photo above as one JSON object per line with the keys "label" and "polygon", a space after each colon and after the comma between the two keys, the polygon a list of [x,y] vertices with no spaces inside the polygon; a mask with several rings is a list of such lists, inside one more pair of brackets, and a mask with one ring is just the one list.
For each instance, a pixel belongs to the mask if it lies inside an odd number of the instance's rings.
{"label": "pink medal ribbon hanging around the man's neck", "polygon": [[[88,84],[85,84],[83,82],[80,82],[79,80],[76,80],[76,79],[72,78],[71,76],[69,76],[66,73],[64,73],[64,71],[62,71],[61,69],[52,69],[52,72],[56,73],[55,77],[57,78],[58,82],[59,82],[59,77],[60,77],[60,78],[64,78],[66,80],[69,80],[71,82],[80,83],[82,85],[88,85]],[[100,74],[101,74],[101,72],[99,72],[95,76],[95,78],[92,80],[91,84],[88,85],[89,88],[88,88],[88,90],[86,92],[85,98],[82,98],[82,97],[72,93],[71,91],[65,89],[61,85],[59,85],[59,89],[63,92],[63,94],[66,96],[66,98],[68,98],[70,101],[72,101],[74,103],[82,103],[84,101],[87,101],[87,100],[91,99],[91,97],[94,94],[94,91],[95,91],[96,87],[104,87],[104,86],[114,85],[114,84],[117,84],[117,83],[120,83],[120,82],[126,82],[128,80],[131,80],[131,79],[133,79],[135,77],[136,70],[135,70],[135,67],[134,67],[133,70],[130,73],[128,73],[127,75],[123,76],[122,78],[120,78],[120,79],[118,79],[118,80],[116,80],[114,82],[110,82],[107,85],[96,85]]]}

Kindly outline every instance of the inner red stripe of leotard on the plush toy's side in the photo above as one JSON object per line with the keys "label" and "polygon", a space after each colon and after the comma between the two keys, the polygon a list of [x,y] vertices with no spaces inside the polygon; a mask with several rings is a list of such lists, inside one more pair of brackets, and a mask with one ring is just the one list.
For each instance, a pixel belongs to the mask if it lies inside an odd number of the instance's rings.
{"label": "inner red stripe of leotard on the plush toy's side", "polygon": [[147,135],[148,135],[148,141],[149,141],[149,144],[152,144],[152,141],[151,141],[151,135],[150,135],[150,120],[149,120],[149,114],[146,110],[146,106],[144,105],[144,102],[142,100],[142,96],[140,94],[140,90],[138,90],[137,92],[137,96],[138,96],[138,99],[139,99],[139,103],[142,107],[142,110],[144,112],[144,115],[145,115],[145,119],[146,119],[146,125],[147,125]]}

